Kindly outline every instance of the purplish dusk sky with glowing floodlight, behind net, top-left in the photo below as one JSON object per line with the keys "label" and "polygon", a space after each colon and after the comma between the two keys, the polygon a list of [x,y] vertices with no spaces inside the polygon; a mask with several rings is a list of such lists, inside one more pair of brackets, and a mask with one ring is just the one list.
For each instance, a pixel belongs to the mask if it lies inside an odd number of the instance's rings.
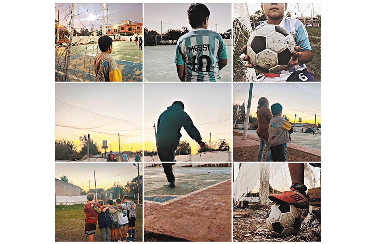
{"label": "purplish dusk sky with glowing floodlight, behind net, top-left", "polygon": [[[68,26],[70,15],[65,16],[71,9],[71,3],[55,3],[55,19],[57,11],[60,10],[61,25]],[[75,28],[87,28],[90,30],[91,20],[89,15],[94,15],[95,20],[92,25],[96,30],[102,25],[102,5],[101,3],[78,3],[76,6]],[[106,15],[108,25],[120,24],[123,20],[141,22],[143,18],[143,4],[141,3],[107,3]]]}

